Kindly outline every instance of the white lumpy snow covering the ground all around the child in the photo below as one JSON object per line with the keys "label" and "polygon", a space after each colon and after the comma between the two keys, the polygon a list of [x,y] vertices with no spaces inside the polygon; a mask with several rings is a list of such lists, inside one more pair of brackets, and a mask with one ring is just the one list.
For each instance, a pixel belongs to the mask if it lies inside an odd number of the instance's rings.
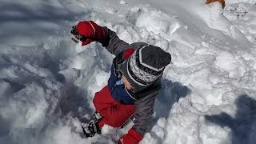
{"label": "white lumpy snow covering the ground all around the child", "polygon": [[172,54],[141,143],[255,142],[255,0],[227,0],[224,10],[204,0],[0,3],[1,144],[115,143],[129,130],[79,134],[114,58],[98,43],[70,40],[71,26],[87,19]]}

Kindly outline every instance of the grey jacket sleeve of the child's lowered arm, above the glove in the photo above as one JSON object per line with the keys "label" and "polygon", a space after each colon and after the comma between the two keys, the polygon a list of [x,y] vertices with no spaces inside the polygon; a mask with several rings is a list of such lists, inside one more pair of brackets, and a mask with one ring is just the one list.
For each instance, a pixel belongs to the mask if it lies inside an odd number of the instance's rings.
{"label": "grey jacket sleeve of the child's lowered arm, above the glove", "polygon": [[142,136],[146,133],[146,129],[150,124],[151,116],[153,114],[154,100],[158,92],[147,95],[144,98],[138,99],[134,102],[135,105],[135,120],[133,128]]}

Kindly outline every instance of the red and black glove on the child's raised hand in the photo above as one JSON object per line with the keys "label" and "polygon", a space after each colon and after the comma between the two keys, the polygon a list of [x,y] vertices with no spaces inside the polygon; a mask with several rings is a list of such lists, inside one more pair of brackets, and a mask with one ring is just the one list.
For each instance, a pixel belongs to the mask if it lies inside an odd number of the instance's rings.
{"label": "red and black glove on the child's raised hand", "polygon": [[106,34],[104,28],[93,21],[78,22],[77,30],[78,34],[86,37],[86,40],[82,42],[82,46],[88,45],[90,42],[100,41]]}

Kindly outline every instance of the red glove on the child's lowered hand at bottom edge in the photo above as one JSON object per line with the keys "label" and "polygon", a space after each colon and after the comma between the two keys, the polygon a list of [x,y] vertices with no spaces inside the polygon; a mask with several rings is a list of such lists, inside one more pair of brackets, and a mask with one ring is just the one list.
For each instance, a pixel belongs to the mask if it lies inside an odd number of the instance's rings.
{"label": "red glove on the child's lowered hand at bottom edge", "polygon": [[128,131],[128,134],[124,134],[118,141],[118,144],[138,144],[142,140],[142,135],[138,134],[134,128]]}

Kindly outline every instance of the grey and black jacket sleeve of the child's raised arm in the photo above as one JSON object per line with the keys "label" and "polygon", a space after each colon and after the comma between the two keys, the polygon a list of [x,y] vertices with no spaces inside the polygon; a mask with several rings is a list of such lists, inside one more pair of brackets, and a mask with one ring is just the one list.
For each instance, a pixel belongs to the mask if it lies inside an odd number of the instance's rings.
{"label": "grey and black jacket sleeve of the child's raised arm", "polygon": [[104,27],[104,29],[106,31],[105,37],[99,42],[102,43],[102,46],[106,47],[106,50],[108,50],[111,54],[117,55],[123,50],[128,49],[129,44],[119,39],[118,35],[114,31],[108,29],[107,27]]}

